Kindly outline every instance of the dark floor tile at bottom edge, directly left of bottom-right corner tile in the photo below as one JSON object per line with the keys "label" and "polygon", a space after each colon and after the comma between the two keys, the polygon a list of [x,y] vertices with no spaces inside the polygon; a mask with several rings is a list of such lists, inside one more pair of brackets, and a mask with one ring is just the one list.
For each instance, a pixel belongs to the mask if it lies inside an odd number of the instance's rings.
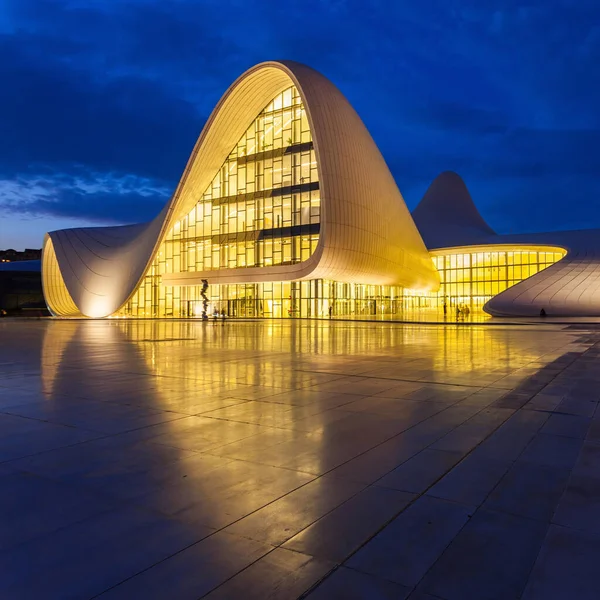
{"label": "dark floor tile at bottom edge, directly left of bottom-right corner tile", "polygon": [[418,589],[445,600],[520,597],[548,526],[479,509]]}

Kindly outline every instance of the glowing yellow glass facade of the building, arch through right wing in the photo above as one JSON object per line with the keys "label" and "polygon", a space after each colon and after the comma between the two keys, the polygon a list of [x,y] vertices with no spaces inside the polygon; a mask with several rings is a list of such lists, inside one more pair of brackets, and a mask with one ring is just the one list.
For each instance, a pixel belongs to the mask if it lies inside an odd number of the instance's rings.
{"label": "glowing yellow glass facade of the building, arch through right wing", "polygon": [[412,318],[414,311],[469,306],[560,260],[546,247],[435,251],[437,293],[334,281],[165,285],[171,273],[292,265],[315,251],[321,198],[311,131],[295,87],[278,94],[250,124],[195,206],[176,221],[138,290],[116,316]]}

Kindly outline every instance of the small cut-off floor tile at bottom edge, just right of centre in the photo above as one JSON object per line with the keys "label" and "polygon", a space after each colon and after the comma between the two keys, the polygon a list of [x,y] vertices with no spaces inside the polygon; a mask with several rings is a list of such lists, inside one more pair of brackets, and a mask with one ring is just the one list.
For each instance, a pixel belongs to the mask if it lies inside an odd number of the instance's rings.
{"label": "small cut-off floor tile at bottom edge, just right of centre", "polygon": [[410,588],[339,567],[312,591],[310,600],[404,600]]}

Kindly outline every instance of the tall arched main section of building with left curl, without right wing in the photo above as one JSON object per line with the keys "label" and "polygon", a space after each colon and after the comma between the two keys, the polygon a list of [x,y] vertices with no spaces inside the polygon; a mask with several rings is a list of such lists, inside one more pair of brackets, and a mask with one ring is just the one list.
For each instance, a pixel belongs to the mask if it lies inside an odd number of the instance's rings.
{"label": "tall arched main section of building with left curl, without right wing", "polygon": [[355,284],[439,286],[362,121],[291,62],[258,65],[227,90],[154,221],[48,234],[43,280],[53,314],[88,317],[193,316],[204,280],[217,310],[265,316],[382,296]]}

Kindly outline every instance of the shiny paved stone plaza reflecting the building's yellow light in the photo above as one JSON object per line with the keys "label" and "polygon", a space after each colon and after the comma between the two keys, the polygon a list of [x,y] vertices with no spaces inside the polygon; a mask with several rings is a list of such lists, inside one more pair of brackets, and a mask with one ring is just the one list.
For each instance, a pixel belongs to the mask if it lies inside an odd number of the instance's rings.
{"label": "shiny paved stone plaza reflecting the building's yellow light", "polygon": [[0,320],[0,598],[596,600],[596,328]]}

